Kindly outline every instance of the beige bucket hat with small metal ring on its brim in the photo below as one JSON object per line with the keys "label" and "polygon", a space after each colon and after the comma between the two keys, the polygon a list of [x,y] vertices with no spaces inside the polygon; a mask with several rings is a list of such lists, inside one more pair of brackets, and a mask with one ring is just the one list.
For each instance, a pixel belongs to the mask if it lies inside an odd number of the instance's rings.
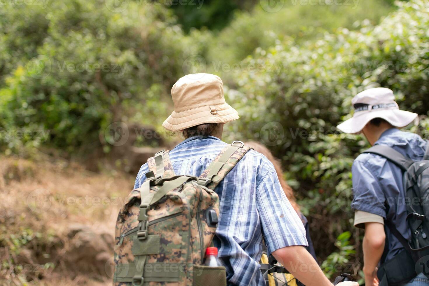
{"label": "beige bucket hat with small metal ring on its brim", "polygon": [[203,123],[227,123],[239,119],[238,112],[225,102],[224,84],[217,75],[185,75],[171,89],[173,113],[164,121],[176,132]]}

